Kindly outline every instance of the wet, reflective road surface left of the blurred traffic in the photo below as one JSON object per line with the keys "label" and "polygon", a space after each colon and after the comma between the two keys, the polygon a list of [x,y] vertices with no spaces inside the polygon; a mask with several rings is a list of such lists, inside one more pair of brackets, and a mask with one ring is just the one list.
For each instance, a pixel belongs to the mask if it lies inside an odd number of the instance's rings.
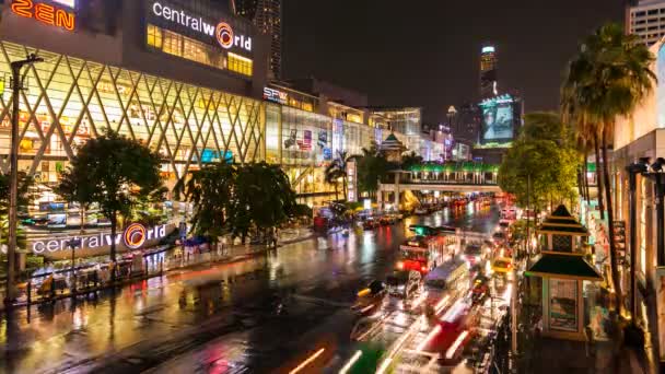
{"label": "wet, reflective road surface left of the blurred traffic", "polygon": [[348,306],[359,289],[393,269],[405,227],[488,232],[499,211],[478,207],[18,311],[0,322],[0,372],[288,372],[322,348],[318,361],[342,360],[353,323]]}

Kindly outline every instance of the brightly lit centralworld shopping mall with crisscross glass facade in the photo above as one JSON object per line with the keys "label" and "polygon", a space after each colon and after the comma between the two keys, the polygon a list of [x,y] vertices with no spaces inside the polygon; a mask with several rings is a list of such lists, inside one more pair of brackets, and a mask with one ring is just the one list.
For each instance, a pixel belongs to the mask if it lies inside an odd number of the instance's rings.
{"label": "brightly lit centralworld shopping mall with crisscross glass facade", "polygon": [[113,3],[2,8],[0,167],[8,172],[10,62],[35,52],[44,61],[26,73],[19,166],[35,176],[42,203],[58,200],[50,188],[77,145],[106,128],[158,151],[168,186],[206,163],[265,160],[310,204],[330,199],[324,170],[339,151],[360,153],[390,128],[416,151],[441,153],[411,139],[420,108],[359,109],[269,82],[268,37],[209,0]]}

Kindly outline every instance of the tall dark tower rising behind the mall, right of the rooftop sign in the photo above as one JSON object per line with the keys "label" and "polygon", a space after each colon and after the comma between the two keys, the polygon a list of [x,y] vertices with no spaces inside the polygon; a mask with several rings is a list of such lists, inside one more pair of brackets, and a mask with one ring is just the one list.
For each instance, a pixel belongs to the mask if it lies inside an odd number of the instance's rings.
{"label": "tall dark tower rising behind the mall, right of the rooftop sign", "polygon": [[232,9],[245,16],[270,36],[270,72],[280,79],[282,72],[282,1],[281,0],[232,0]]}

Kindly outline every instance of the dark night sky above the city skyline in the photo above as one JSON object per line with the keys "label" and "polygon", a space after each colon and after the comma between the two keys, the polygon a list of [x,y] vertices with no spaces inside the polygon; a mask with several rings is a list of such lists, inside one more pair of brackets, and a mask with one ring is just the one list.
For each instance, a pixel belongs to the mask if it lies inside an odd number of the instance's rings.
{"label": "dark night sky above the city skyline", "polygon": [[[324,5],[325,4],[325,5]],[[314,74],[370,104],[423,106],[424,121],[478,97],[480,45],[498,48],[499,90],[557,109],[565,62],[621,0],[283,0],[285,78]]]}

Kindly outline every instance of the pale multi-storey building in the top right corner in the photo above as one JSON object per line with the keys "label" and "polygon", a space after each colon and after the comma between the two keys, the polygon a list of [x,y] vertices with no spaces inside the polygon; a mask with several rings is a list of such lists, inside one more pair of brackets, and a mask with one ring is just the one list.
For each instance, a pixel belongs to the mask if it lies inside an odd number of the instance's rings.
{"label": "pale multi-storey building in the top right corner", "polygon": [[648,46],[665,35],[665,0],[642,0],[626,11],[626,30]]}

